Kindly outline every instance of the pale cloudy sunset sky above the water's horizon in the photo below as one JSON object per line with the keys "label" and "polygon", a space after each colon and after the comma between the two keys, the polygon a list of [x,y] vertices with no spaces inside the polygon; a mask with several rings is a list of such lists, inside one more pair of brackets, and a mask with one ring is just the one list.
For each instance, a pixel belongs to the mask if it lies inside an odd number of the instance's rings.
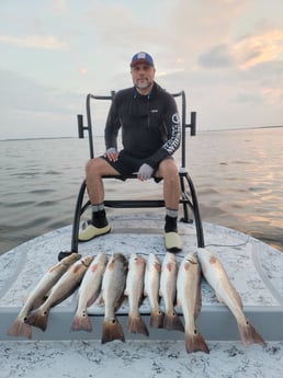
{"label": "pale cloudy sunset sky above the water's horizon", "polygon": [[[282,14],[282,0],[0,0],[0,139],[76,137],[87,94],[131,87],[140,50],[199,130],[283,125]],[[109,105],[92,104],[94,134]]]}

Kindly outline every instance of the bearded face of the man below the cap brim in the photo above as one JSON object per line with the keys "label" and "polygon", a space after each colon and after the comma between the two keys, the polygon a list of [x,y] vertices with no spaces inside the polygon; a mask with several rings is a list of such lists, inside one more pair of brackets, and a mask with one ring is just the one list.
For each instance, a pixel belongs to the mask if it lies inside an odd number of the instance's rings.
{"label": "bearded face of the man below the cap brim", "polygon": [[155,80],[155,67],[140,62],[132,67],[131,73],[134,85],[143,91],[147,89],[151,89],[154,80]]}

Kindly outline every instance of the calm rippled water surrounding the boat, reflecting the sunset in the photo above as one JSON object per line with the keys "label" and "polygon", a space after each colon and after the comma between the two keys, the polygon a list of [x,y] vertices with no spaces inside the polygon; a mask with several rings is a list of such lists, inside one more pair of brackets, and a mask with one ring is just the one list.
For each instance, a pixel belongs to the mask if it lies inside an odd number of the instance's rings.
{"label": "calm rippled water surrounding the boat, reflecting the sunset", "polygon": [[[97,140],[95,154],[104,150],[103,139]],[[0,141],[0,254],[71,224],[88,157],[87,139]],[[283,251],[282,162],[283,127],[188,137],[186,168],[202,219]],[[161,188],[152,182],[106,183],[109,197],[154,197]]]}

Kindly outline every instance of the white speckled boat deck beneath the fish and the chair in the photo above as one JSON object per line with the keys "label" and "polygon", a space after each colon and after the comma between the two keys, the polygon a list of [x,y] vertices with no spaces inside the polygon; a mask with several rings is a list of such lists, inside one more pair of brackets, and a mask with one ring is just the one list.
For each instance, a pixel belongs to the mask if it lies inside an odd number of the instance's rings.
{"label": "white speckled boat deck beneath the fish and the chair", "polygon": [[[112,233],[80,243],[79,253],[154,252],[162,260],[166,251],[160,216],[120,215],[111,222]],[[181,261],[186,253],[196,251],[196,238],[192,225],[180,224],[179,230],[184,242],[183,252],[178,254]],[[123,377],[283,377],[283,254],[246,234],[211,224],[204,224],[205,244],[226,268],[242,298],[247,318],[268,342],[267,348],[241,344],[233,314],[216,301],[204,280],[197,327],[210,355],[186,354],[181,332],[149,328],[149,337],[127,333],[126,303],[118,311],[125,343],[100,343],[103,309],[97,305],[89,309],[93,332],[71,332],[76,294],[52,309],[45,332],[33,328],[32,341],[8,336],[31,288],[57,262],[58,252],[69,249],[70,234],[71,228],[65,227],[0,257],[1,377],[109,377],[111,369],[118,377],[118,371]],[[148,322],[147,300],[140,311]],[[33,366],[32,370],[29,366]]]}

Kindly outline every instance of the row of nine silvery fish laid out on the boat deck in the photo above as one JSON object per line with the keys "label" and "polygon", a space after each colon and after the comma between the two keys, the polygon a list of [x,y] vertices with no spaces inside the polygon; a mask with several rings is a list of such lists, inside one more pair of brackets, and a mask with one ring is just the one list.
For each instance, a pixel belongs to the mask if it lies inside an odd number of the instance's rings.
{"label": "row of nine silvery fish laid out on the boat deck", "polygon": [[[154,253],[147,259],[133,253],[128,259],[122,253],[110,257],[105,253],[81,257],[72,253],[50,267],[30,294],[8,334],[32,337],[31,325],[46,330],[52,307],[58,305],[78,289],[78,303],[70,328],[72,331],[92,331],[88,308],[99,302],[104,308],[102,344],[113,340],[125,341],[124,330],[116,311],[125,297],[128,299],[127,330],[149,335],[140,314],[145,297],[150,306],[150,327],[184,332],[186,352],[210,353],[208,346],[196,328],[200,314],[202,274],[236,318],[245,344],[264,340],[246,319],[239,294],[231,285],[220,261],[206,249],[189,253],[180,264],[172,253],[166,253],[162,262]],[[163,308],[160,307],[160,297]],[[183,322],[176,311],[181,308]],[[213,327],[213,324],[212,324]]]}

